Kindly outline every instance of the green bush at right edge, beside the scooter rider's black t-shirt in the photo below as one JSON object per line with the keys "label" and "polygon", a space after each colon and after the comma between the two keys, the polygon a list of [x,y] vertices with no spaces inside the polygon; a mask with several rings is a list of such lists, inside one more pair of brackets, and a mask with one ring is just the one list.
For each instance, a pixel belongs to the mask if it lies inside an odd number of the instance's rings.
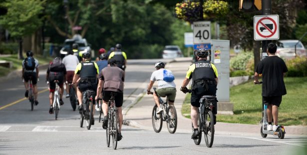
{"label": "green bush at right edge, beside the scooter rider's black t-shirt", "polygon": [[301,77],[307,76],[307,57],[296,57],[286,60],[288,72],[286,76]]}

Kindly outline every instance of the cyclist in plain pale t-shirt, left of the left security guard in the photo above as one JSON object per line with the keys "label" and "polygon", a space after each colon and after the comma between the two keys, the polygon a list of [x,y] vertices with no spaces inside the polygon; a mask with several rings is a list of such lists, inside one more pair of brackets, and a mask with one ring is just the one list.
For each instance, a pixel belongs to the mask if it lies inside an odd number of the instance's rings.
{"label": "cyclist in plain pale t-shirt, left of the left security guard", "polygon": [[74,75],[74,70],[76,70],[76,66],[79,63],[79,59],[76,55],[73,55],[73,51],[69,50],[68,55],[66,55],[62,62],[66,67],[67,72],[67,83],[66,83],[66,97],[69,97],[69,85],[68,83],[72,82],[72,78]]}

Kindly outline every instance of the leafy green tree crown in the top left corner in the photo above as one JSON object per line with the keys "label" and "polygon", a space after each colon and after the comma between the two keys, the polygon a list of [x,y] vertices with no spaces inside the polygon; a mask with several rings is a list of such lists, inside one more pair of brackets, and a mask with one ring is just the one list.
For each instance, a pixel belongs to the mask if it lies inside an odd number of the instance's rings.
{"label": "leafy green tree crown in the top left corner", "polygon": [[0,24],[9,30],[11,36],[32,34],[41,25],[39,14],[45,0],[7,0],[0,3],[7,13],[0,16]]}

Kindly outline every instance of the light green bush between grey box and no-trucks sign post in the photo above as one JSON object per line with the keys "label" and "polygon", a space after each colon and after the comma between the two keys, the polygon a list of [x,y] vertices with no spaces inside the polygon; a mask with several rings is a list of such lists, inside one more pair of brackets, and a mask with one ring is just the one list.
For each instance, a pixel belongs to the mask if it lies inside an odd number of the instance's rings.
{"label": "light green bush between grey box and no-trucks sign post", "polygon": [[246,70],[250,59],[254,59],[252,52],[241,52],[230,59],[231,70]]}

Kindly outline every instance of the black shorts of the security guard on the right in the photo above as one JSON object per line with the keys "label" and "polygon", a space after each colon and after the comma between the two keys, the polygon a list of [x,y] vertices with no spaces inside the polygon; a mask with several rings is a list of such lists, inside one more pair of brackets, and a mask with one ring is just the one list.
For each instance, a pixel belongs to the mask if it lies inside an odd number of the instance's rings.
{"label": "black shorts of the security guard on the right", "polygon": [[208,90],[206,91],[205,87],[197,86],[193,89],[191,94],[191,105],[195,107],[200,107],[200,98],[203,95],[216,95],[216,86],[215,84],[208,84]]}

